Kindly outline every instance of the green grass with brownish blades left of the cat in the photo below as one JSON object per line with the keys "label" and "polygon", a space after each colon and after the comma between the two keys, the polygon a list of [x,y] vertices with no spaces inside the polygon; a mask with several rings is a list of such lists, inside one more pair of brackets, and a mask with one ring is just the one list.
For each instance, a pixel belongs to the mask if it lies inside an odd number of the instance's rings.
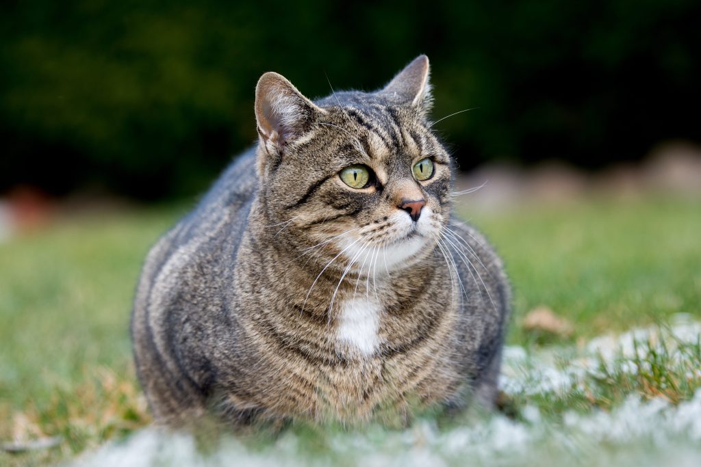
{"label": "green grass with brownish blades left of the cat", "polygon": [[[61,221],[0,244],[0,439],[62,435],[51,461],[147,421],[128,335],[149,246],[182,209]],[[35,457],[36,456],[36,457]]]}

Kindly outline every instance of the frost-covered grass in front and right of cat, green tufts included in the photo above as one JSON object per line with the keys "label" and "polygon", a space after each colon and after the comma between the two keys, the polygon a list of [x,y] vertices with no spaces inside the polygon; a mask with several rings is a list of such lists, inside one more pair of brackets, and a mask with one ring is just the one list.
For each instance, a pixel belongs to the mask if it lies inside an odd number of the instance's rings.
{"label": "frost-covered grass in front and right of cat, green tufts included", "polygon": [[146,428],[77,466],[697,466],[701,459],[701,323],[604,336],[580,346],[505,351],[503,391],[517,414],[404,431],[287,431],[262,444],[222,438],[198,448]]}

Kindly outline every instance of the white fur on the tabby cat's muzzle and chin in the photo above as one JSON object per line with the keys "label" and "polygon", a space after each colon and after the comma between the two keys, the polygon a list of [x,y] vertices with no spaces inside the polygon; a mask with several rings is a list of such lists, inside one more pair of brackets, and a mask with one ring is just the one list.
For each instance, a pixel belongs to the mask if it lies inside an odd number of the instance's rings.
{"label": "white fur on the tabby cat's muzzle and chin", "polygon": [[[341,250],[345,249],[343,256],[353,260],[356,270],[362,269],[363,275],[381,275],[402,269],[427,244],[433,243],[433,235],[437,235],[439,229],[437,222],[433,221],[433,211],[428,207],[421,211],[416,224],[404,211],[397,211],[388,222],[392,224],[390,230],[393,234],[384,241],[367,244],[362,240],[356,242],[358,237],[346,237],[336,243]],[[412,230],[416,232],[406,238]]]}

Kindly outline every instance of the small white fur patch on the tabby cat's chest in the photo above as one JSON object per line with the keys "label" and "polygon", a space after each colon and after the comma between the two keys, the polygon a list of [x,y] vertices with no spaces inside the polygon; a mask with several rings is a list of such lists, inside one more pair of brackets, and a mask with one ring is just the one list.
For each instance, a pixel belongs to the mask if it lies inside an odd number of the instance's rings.
{"label": "small white fur patch on the tabby cat's chest", "polygon": [[380,326],[381,307],[373,298],[355,298],[341,307],[336,338],[362,355],[375,353],[379,344],[377,331]]}

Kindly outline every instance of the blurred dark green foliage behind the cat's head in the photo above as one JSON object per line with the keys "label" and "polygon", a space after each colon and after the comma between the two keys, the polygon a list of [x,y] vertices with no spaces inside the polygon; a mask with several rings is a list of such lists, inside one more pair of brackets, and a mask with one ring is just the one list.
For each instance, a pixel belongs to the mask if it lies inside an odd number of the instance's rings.
{"label": "blurred dark green foliage behind the cat's head", "polygon": [[701,140],[693,0],[7,1],[0,191],[32,183],[139,197],[201,190],[254,142],[264,71],[306,95],[378,88],[418,53],[463,168],[639,158]]}

